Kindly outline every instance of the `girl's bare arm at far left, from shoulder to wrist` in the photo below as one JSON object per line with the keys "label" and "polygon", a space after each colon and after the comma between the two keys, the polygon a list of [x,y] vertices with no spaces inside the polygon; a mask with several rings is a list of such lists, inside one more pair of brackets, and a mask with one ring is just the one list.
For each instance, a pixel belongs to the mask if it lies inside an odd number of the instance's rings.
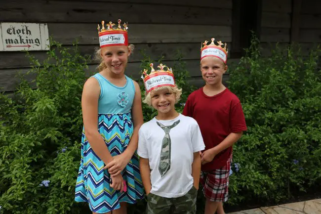
{"label": "girl's bare arm at far left, from shoulder to wrist", "polygon": [[89,78],[81,96],[82,120],[85,136],[96,155],[107,165],[113,160],[104,139],[98,132],[98,99],[100,86],[95,78]]}

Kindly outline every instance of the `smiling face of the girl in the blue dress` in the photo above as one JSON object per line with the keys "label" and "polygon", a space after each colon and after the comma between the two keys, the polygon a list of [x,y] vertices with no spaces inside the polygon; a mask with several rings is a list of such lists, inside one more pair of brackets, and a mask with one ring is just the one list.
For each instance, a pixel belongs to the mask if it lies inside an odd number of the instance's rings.
{"label": "smiling face of the girl in the blue dress", "polygon": [[107,69],[114,74],[124,73],[130,50],[126,46],[107,46],[101,48],[101,57]]}

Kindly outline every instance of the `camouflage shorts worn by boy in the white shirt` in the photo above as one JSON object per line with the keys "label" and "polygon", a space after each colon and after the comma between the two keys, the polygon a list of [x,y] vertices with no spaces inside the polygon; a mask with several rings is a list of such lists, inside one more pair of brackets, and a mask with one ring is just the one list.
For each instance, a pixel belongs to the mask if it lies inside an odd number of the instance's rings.
{"label": "camouflage shorts worn by boy in the white shirt", "polygon": [[178,198],[164,198],[150,193],[147,196],[146,214],[195,214],[197,192],[193,186]]}

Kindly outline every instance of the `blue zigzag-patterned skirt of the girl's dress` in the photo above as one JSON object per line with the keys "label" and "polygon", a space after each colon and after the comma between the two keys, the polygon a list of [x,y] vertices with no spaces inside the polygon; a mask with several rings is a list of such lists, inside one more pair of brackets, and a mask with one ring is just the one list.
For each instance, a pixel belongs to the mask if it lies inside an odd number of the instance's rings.
{"label": "blue zigzag-patterned skirt of the girl's dress", "polygon": [[[99,114],[98,131],[114,155],[127,148],[133,132],[130,113]],[[109,186],[110,175],[103,170],[104,163],[95,154],[86,139],[84,130],[81,136],[81,161],[77,177],[75,200],[87,202],[95,213],[107,213],[120,207],[120,202],[136,203],[144,195],[143,183],[139,172],[139,158],[135,153],[122,171],[127,183],[127,192],[120,193]]]}

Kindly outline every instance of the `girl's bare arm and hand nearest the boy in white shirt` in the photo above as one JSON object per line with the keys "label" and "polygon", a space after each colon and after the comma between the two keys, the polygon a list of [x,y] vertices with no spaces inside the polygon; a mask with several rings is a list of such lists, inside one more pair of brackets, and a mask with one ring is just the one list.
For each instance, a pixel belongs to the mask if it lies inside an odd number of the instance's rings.
{"label": "girl's bare arm and hand nearest the boy in white shirt", "polygon": [[131,108],[131,115],[134,131],[125,151],[122,154],[115,156],[114,160],[105,168],[108,169],[109,173],[113,175],[119,174],[126,167],[134,152],[137,150],[138,130],[144,123],[140,87],[138,83],[135,81],[133,82],[135,86],[135,97]]}

